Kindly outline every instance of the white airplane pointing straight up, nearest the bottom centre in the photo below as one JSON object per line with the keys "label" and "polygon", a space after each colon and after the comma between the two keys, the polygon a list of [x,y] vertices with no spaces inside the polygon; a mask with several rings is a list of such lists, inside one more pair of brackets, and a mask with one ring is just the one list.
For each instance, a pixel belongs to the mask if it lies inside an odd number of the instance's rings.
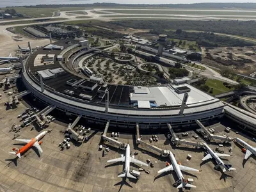
{"label": "white airplane pointing straight up, nearest the bottom centre", "polygon": [[147,163],[143,163],[142,161],[139,161],[138,159],[134,159],[134,158],[130,157],[130,152],[131,152],[130,145],[127,144],[127,147],[125,150],[125,157],[119,157],[116,159],[108,160],[108,163],[125,162],[124,173],[122,173],[121,175],[118,175],[118,177],[129,177],[132,179],[136,179],[136,177],[134,177],[130,173],[130,163],[136,163],[136,164],[142,164],[142,165],[148,166]]}

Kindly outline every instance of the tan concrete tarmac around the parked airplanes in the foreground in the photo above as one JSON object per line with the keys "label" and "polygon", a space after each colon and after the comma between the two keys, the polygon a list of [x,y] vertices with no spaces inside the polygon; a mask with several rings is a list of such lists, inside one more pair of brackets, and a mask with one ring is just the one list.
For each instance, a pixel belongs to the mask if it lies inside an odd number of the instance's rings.
{"label": "tan concrete tarmac around the parked airplanes in the foreground", "polygon": [[[10,92],[10,90],[7,90]],[[124,150],[118,150],[110,147],[110,151],[102,157],[102,151],[99,150],[100,134],[102,132],[93,131],[89,136],[90,140],[82,143],[80,146],[71,143],[69,149],[60,150],[59,143],[63,141],[63,129],[65,126],[58,122],[51,122],[47,129],[52,129],[43,139],[41,145],[44,150],[39,157],[36,150],[32,148],[26,152],[21,159],[16,159],[9,151],[12,148],[22,147],[22,143],[12,140],[14,132],[10,132],[13,124],[21,124],[17,116],[26,109],[22,102],[15,109],[6,110],[4,106],[6,93],[3,88],[0,89],[2,99],[0,100],[0,191],[182,191],[173,187],[173,183],[177,180],[175,173],[164,173],[158,175],[157,171],[166,166],[166,162],[170,163],[168,157],[160,157],[156,152],[147,152],[147,148],[142,145],[139,148],[134,141],[134,135],[121,134],[120,141],[129,143],[133,152],[138,152],[136,159],[146,162],[150,159],[154,163],[154,168],[141,167],[147,169],[150,173],[141,172],[139,180],[126,179],[117,177],[122,172],[124,163],[107,163],[109,159],[120,157],[125,154]],[[79,123],[77,124],[79,125]],[[39,132],[44,130],[31,130],[32,125],[24,127],[18,132],[19,138],[30,139],[35,137]],[[216,132],[214,134],[223,134],[225,126],[223,124],[211,125]],[[47,130],[46,129],[46,130]],[[203,141],[202,138],[192,137],[196,134],[189,131],[186,140]],[[226,133],[227,134],[227,133]],[[256,143],[248,140],[240,133],[230,131],[229,136],[242,138],[244,141],[254,147]],[[149,143],[151,135],[143,135],[142,140]],[[180,145],[174,147],[170,144],[170,140],[165,135],[158,136],[159,141],[152,142],[159,148],[171,150],[175,154],[175,158],[184,166],[202,170],[200,173],[183,172],[185,178],[194,179],[193,185],[197,188],[183,189],[183,191],[256,191],[256,158],[250,157],[243,165],[244,154],[241,147],[234,142],[232,153],[228,152],[230,146],[225,146],[221,150],[225,154],[232,154],[227,157],[234,168],[233,172],[227,172],[226,177],[220,171],[214,170],[214,161],[202,163],[204,152],[202,149]],[[20,143],[20,145],[14,145]],[[209,143],[212,149],[218,147],[216,143]],[[147,149],[147,150],[143,150]],[[189,161],[186,157],[192,156]],[[225,161],[226,162],[226,161]],[[138,170],[139,166],[131,164],[131,170]]]}

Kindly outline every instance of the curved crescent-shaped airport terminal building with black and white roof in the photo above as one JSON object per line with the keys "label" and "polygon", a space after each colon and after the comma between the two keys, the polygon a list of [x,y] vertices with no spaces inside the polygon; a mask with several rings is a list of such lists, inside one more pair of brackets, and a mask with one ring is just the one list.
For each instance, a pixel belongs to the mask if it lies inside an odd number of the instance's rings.
{"label": "curved crescent-shaped airport terminal building with black and white roof", "polygon": [[[37,99],[67,114],[102,125],[111,121],[116,127],[134,128],[139,123],[146,129],[167,127],[166,123],[188,126],[195,120],[204,122],[223,116],[225,105],[221,100],[189,84],[127,86],[81,77],[57,60],[65,50],[67,47],[62,51],[40,49],[31,54],[22,68],[22,81]],[[52,63],[35,60],[49,52],[54,54]],[[66,59],[69,63],[72,60]]]}

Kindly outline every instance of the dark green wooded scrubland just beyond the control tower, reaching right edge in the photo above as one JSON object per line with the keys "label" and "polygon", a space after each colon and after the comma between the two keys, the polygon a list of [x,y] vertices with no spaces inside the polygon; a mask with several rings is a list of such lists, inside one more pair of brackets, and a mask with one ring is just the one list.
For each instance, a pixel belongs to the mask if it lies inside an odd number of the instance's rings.
{"label": "dark green wooded scrubland just beyond the control tower, reaching right edge", "polygon": [[193,29],[256,38],[256,22],[253,20],[122,20],[111,23],[136,29]]}

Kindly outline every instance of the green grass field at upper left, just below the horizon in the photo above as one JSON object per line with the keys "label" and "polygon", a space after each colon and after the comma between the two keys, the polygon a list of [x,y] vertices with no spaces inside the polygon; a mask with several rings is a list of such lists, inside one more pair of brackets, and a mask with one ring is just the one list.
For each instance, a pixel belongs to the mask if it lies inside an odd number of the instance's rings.
{"label": "green grass field at upper left, just below the horizon", "polygon": [[[6,10],[7,8],[2,8]],[[16,12],[28,15],[30,17],[52,17],[54,12],[60,11],[76,11],[86,10],[86,7],[61,7],[61,8],[26,8],[26,7],[15,7]]]}

